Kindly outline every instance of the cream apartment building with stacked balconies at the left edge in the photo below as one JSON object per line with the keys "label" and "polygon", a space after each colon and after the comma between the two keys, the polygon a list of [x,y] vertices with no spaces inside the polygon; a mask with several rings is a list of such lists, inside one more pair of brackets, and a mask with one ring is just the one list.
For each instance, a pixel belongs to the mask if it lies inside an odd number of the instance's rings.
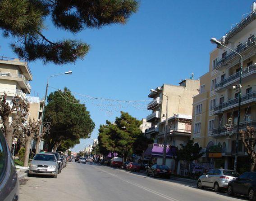
{"label": "cream apartment building with stacked balconies at the left edge", "polygon": [[[0,57],[0,95],[6,93],[10,105],[16,95],[28,103],[26,94],[31,92],[29,80],[32,80],[32,73],[27,62],[17,58]],[[11,121],[11,116],[9,120]]]}

